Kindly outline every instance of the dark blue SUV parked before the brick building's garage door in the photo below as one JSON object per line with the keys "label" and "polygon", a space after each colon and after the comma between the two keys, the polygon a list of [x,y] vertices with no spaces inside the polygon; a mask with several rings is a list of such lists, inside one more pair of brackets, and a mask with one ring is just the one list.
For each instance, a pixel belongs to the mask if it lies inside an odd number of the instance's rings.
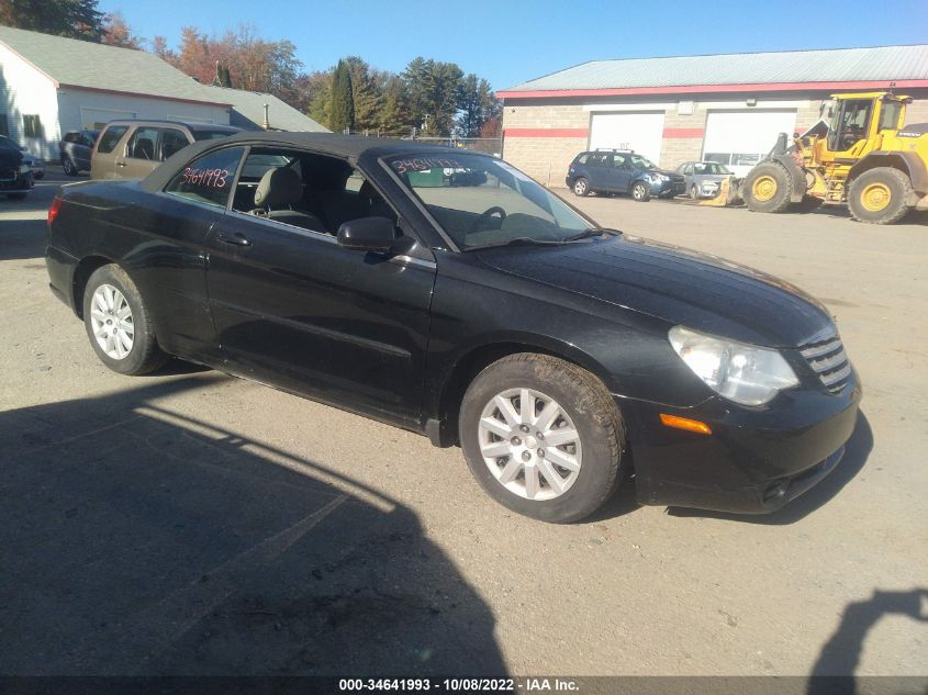
{"label": "dark blue SUV parked before the brick building's garage door", "polygon": [[577,195],[630,193],[639,202],[651,195],[672,198],[686,190],[682,176],[626,149],[582,152],[570,162],[564,180]]}

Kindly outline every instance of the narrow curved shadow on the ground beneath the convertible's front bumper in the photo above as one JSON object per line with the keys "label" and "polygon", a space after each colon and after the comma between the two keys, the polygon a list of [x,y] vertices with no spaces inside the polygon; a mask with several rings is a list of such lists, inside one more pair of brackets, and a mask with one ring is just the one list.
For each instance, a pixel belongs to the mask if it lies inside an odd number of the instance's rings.
{"label": "narrow curved shadow on the ground beneath the convertible's front bumper", "polygon": [[873,430],[866,416],[861,412],[857,418],[851,438],[845,445],[845,456],[837,468],[820,483],[806,492],[801,497],[793,500],[782,509],[772,514],[727,514],[724,512],[707,512],[702,509],[684,509],[682,507],[670,507],[668,513],[672,516],[689,517],[700,516],[706,518],[728,519],[733,522],[745,522],[748,524],[782,525],[795,524],[805,518],[819,507],[827,504],[841,490],[851,482],[866,463],[870,452],[873,450]]}

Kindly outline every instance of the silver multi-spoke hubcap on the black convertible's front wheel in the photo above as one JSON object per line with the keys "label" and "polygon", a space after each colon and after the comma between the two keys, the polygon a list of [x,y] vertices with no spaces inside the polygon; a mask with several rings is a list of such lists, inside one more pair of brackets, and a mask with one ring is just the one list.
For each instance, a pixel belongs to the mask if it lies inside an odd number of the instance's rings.
{"label": "silver multi-spoke hubcap on the black convertible's front wheel", "polygon": [[480,452],[506,490],[527,500],[554,500],[577,482],[582,450],[570,415],[549,395],[507,389],[484,407]]}

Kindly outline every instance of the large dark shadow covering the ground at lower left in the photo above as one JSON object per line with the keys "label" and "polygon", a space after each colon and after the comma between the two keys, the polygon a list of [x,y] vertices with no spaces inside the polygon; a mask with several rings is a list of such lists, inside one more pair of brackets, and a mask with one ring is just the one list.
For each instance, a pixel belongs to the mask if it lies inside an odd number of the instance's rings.
{"label": "large dark shadow covering the ground at lower left", "polygon": [[10,674],[503,674],[414,513],[161,405],[181,374],[0,413]]}

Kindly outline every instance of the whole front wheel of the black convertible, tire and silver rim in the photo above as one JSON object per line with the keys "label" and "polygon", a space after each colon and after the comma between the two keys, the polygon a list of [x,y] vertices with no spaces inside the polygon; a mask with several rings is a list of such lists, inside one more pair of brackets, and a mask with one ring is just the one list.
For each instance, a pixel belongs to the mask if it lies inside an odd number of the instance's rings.
{"label": "whole front wheel of the black convertible, tire and silver rim", "polygon": [[[527,423],[519,415],[524,394],[534,400]],[[508,418],[500,405],[506,402]],[[539,421],[551,413],[550,424]],[[495,424],[488,427],[488,421]],[[547,355],[511,355],[481,371],[465,393],[458,431],[471,473],[491,497],[552,524],[577,522],[602,506],[615,492],[626,459],[625,426],[603,383]],[[560,442],[548,444],[555,434]]]}

